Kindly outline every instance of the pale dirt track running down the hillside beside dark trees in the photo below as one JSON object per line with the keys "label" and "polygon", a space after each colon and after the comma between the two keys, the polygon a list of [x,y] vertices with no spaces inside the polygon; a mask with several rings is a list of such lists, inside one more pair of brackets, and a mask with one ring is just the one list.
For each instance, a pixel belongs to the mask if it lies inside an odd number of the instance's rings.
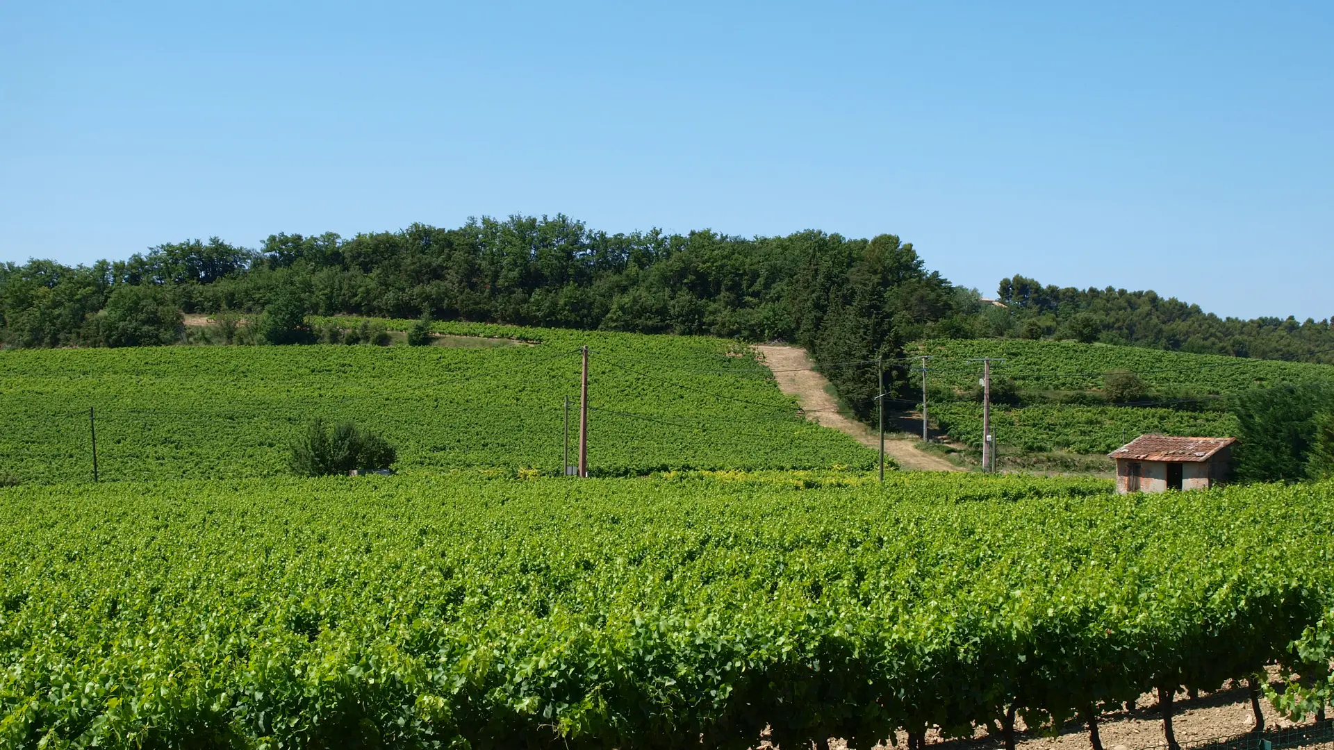
{"label": "pale dirt track running down the hillside beside dark trees", "polygon": [[[864,446],[880,450],[880,436],[875,431],[838,412],[838,400],[830,394],[830,382],[812,370],[815,363],[806,355],[806,350],[788,346],[756,346],[755,350],[774,371],[779,390],[796,396],[807,416],[856,438]],[[962,471],[948,460],[923,451],[914,440],[886,436],[884,452],[902,468],[911,471]]]}

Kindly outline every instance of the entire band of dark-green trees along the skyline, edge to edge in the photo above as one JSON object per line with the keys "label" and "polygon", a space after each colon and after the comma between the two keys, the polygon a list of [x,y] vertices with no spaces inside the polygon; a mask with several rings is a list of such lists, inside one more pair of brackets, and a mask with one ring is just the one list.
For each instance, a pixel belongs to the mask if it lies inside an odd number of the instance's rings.
{"label": "entire band of dark-green trees along the skyline, edge to edge", "polygon": [[[1334,362],[1329,320],[1219,319],[1151,291],[1043,287],[1023,276],[1005,279],[998,302],[928,271],[894,235],[612,235],[559,215],[512,216],[350,239],[277,234],[259,250],[213,238],[79,267],[5,263],[0,342],[163,344],[180,340],[191,312],[255,318],[251,338],[272,343],[312,340],[299,330],[305,314],[784,339],[812,351],[863,416],[874,368],[838,363],[892,358],[923,336]],[[890,384],[904,376],[891,370]]]}

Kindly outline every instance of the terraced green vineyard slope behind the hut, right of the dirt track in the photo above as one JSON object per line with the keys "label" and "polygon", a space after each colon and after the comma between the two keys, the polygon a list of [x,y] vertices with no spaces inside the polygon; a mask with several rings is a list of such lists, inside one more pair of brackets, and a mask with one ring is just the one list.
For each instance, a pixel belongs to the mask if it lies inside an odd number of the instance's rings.
{"label": "terraced green vineyard slope behind the hut, right of the dirt track", "polygon": [[[975,359],[999,359],[992,383],[1009,390],[1010,403],[992,406],[994,432],[1002,447],[1021,451],[1105,454],[1146,432],[1235,435],[1235,419],[1223,408],[1227,396],[1334,379],[1326,364],[1073,342],[932,340],[908,354],[932,358],[931,415],[972,447],[982,444],[982,404],[975,400],[982,364]],[[1107,403],[1106,379],[1118,371],[1134,374],[1139,388],[1129,403]]]}

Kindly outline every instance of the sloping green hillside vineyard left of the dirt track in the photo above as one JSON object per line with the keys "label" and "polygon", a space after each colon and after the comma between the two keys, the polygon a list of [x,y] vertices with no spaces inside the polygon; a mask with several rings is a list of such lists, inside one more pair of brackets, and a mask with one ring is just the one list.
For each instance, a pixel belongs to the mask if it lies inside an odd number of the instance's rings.
{"label": "sloping green hillside vineyard left of the dirt track", "polygon": [[[804,420],[744,347],[723,339],[438,324],[507,347],[153,347],[0,352],[0,476],[271,476],[313,415],[399,447],[403,471],[560,474],[564,399],[578,432],[590,366],[596,474],[672,468],[868,468],[874,454]],[[571,448],[574,451],[574,447]]]}

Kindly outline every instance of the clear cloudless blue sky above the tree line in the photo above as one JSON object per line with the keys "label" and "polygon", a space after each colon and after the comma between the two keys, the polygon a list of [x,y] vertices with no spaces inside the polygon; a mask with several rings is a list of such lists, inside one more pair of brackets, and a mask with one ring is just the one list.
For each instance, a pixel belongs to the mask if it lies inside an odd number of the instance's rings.
{"label": "clear cloudless blue sky above the tree line", "polygon": [[558,214],[1334,315],[1334,3],[4,3],[0,260]]}

